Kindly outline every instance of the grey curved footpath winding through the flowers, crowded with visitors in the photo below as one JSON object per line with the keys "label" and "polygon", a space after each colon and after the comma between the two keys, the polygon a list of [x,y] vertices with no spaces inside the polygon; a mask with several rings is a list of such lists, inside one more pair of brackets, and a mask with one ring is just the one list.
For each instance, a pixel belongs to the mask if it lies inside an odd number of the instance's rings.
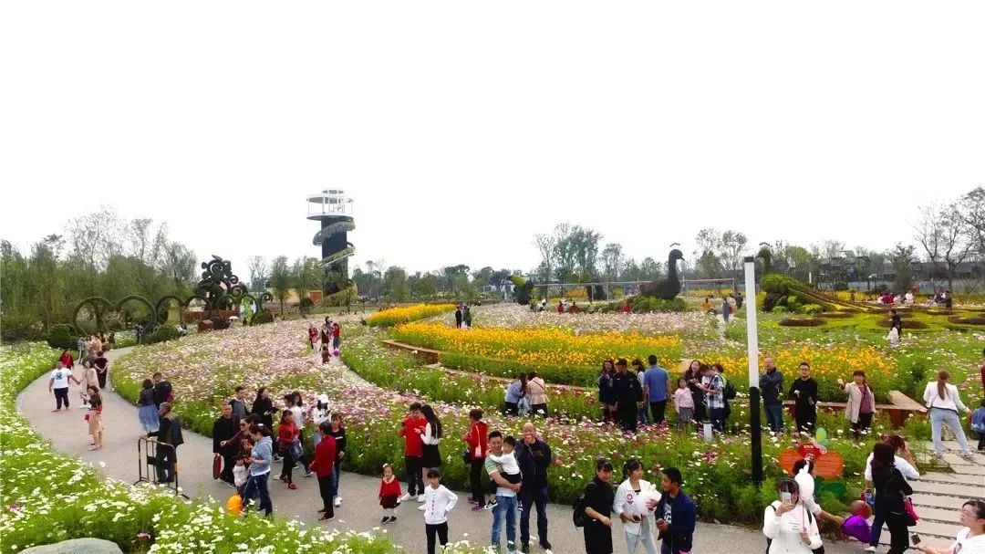
{"label": "grey curved footpath winding through the flowers, crowded with visitors", "polygon": [[[129,348],[110,351],[111,363],[129,351]],[[339,369],[346,371],[354,380],[361,380],[349,372],[340,362]],[[153,373],[148,369],[148,375]],[[77,370],[78,376],[78,370]],[[141,435],[137,419],[137,408],[114,392],[103,394],[102,421],[105,437],[101,450],[89,449],[89,436],[83,422],[82,402],[79,399],[81,386],[73,383],[70,391],[72,402],[69,411],[52,413],[54,395],[48,392],[48,376],[33,381],[18,396],[17,405],[22,414],[32,423],[37,432],[51,442],[55,450],[78,456],[83,461],[96,466],[105,476],[122,481],[137,480],[140,460],[137,456],[137,438]],[[192,498],[214,498],[226,501],[233,493],[222,481],[212,479],[212,440],[196,433],[185,432],[185,444],[178,449],[178,481],[184,494]],[[458,451],[458,444],[452,441],[447,447]],[[275,463],[274,471],[279,472],[280,464]],[[318,496],[317,479],[304,478],[301,471],[295,470],[297,490],[289,490],[280,481],[271,481],[271,497],[277,515],[297,519],[308,525],[327,525],[332,528],[355,531],[385,532],[390,539],[404,547],[409,553],[425,552],[424,516],[417,510],[416,502],[404,503],[397,510],[397,521],[380,528],[382,511],[377,501],[379,479],[357,473],[345,472],[340,484],[344,499],[341,508],[336,509],[336,518],[327,523],[317,520],[316,510],[321,506]],[[406,483],[404,484],[406,489]],[[459,502],[449,519],[449,539],[468,540],[472,544],[486,546],[490,542],[492,514],[490,512],[470,511],[466,494],[458,492]],[[531,514],[531,552],[541,552],[537,544],[536,513]],[[548,506],[550,540],[553,551],[558,554],[575,554],[584,551],[581,530],[571,523],[571,508],[565,505]],[[614,524],[614,546],[617,553],[625,552],[623,532],[619,523]],[[888,537],[886,536],[886,539]],[[519,519],[517,520],[517,540],[519,540]],[[501,539],[505,548],[505,537]],[[261,546],[261,545],[254,545]],[[519,545],[518,545],[519,546]],[[734,552],[759,553],[765,550],[762,533],[742,527],[699,522],[695,532],[695,552]],[[825,545],[828,554],[849,554],[861,550],[858,543],[830,543]]]}

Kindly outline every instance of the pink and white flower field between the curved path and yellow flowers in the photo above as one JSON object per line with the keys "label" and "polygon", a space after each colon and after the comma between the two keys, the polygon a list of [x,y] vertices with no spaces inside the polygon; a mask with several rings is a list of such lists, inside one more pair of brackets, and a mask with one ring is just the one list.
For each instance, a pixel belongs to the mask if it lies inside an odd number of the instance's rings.
{"label": "pink and white flower field between the curved path and yellow flowers", "polygon": [[[118,390],[135,397],[136,383],[143,379],[146,368],[166,368],[165,374],[177,389],[176,410],[199,432],[208,435],[218,405],[228,397],[235,384],[242,381],[255,389],[258,385],[272,386],[276,398],[287,390],[300,390],[310,402],[318,393],[331,398],[337,412],[343,414],[349,432],[349,452],[345,469],[375,475],[384,462],[393,463],[400,474],[403,470],[402,439],[395,433],[406,413],[406,406],[423,398],[434,406],[445,428],[442,442],[443,478],[451,487],[464,489],[468,469],[460,456],[464,443],[467,413],[472,406],[484,407],[495,402],[487,399],[493,392],[454,381],[461,397],[440,401],[416,392],[403,392],[400,383],[407,373],[415,372],[414,362],[406,356],[395,356],[382,348],[361,347],[361,337],[347,332],[343,341],[343,359],[354,372],[364,376],[387,376],[401,391],[367,384],[338,366],[322,366],[313,356],[303,353],[304,322],[285,321],[257,327],[237,327],[221,332],[204,333],[176,343],[164,343],[141,348],[121,359],[115,366]],[[360,333],[361,330],[353,331]],[[365,336],[369,336],[366,333]],[[349,345],[352,341],[354,344]],[[262,345],[258,348],[257,345]],[[303,353],[303,354],[302,354]],[[248,369],[248,370],[246,370]],[[381,378],[380,378],[381,379]],[[427,379],[440,380],[440,376]],[[376,378],[373,379],[376,381]],[[127,381],[124,386],[120,381]],[[382,382],[382,381],[381,381]],[[437,388],[430,383],[429,391]],[[494,389],[494,387],[493,387]],[[470,392],[471,391],[471,392]],[[252,392],[252,390],[251,390]],[[458,392],[456,392],[458,393]],[[445,396],[449,397],[449,396]],[[252,398],[248,398],[251,402]],[[737,418],[741,418],[738,410]],[[830,421],[831,429],[843,427],[837,418]],[[519,435],[523,421],[487,413],[492,429]],[[741,419],[739,419],[741,421]],[[555,467],[551,471],[550,495],[558,502],[570,503],[581,492],[592,475],[591,464],[596,455],[610,455],[617,465],[628,456],[639,456],[651,470],[657,466],[681,467],[687,479],[686,487],[698,503],[702,517],[730,522],[755,522],[767,501],[749,481],[749,447],[745,435],[706,445],[695,433],[678,434],[650,428],[635,437],[593,420],[538,420],[544,439],[555,450]],[[861,472],[871,442],[856,443],[841,439],[832,432],[831,448],[842,453],[849,476],[848,492],[842,498],[831,496],[821,502],[830,510],[843,510],[843,502],[858,496],[858,483],[853,474]],[[766,441],[766,458],[775,460],[780,450],[792,446],[792,440]],[[310,449],[310,445],[306,445]],[[775,461],[767,463],[771,478],[779,475]],[[770,490],[767,483],[762,490]]]}

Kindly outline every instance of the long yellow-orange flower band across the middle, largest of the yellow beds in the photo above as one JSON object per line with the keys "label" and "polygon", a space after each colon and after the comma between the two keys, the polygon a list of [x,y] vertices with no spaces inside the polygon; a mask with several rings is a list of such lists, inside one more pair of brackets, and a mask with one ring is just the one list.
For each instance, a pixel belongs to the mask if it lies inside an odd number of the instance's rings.
{"label": "long yellow-orange flower band across the middle, largest of the yellow beds", "polygon": [[601,366],[606,358],[645,358],[649,354],[656,354],[664,363],[675,363],[681,347],[681,339],[675,335],[575,334],[550,327],[474,327],[465,330],[439,323],[416,322],[397,326],[395,334],[399,340],[415,346],[522,364],[594,367]]}

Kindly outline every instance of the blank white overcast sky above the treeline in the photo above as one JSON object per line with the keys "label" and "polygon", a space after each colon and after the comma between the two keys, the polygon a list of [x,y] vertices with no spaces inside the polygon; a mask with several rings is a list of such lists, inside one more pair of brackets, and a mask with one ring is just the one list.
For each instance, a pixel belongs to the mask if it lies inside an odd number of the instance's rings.
{"label": "blank white overcast sky above the treeline", "polygon": [[[985,184],[985,2],[6,2],[0,237],[115,207],[200,257],[530,269],[594,227],[887,247]],[[221,225],[217,226],[216,222]],[[222,230],[222,232],[220,231]]]}

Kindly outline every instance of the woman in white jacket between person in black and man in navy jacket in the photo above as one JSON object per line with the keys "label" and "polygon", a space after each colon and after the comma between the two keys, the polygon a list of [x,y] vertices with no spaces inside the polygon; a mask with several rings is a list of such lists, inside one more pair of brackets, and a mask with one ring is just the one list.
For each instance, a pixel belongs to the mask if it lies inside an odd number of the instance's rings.
{"label": "woman in white jacket between person in black and man in navy jacket", "polygon": [[616,489],[613,513],[623,521],[625,549],[635,554],[640,544],[646,554],[657,554],[657,543],[653,539],[656,522],[653,510],[660,502],[660,493],[648,481],[644,481],[643,464],[638,459],[628,459],[623,466],[625,480]]}

